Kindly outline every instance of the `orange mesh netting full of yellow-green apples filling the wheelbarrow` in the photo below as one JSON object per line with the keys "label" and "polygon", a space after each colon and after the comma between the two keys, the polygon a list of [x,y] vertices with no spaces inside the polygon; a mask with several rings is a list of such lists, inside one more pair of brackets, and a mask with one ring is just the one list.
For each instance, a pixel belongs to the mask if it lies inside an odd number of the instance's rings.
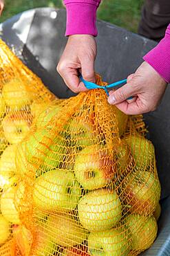
{"label": "orange mesh netting full of yellow-green apples filling the wheelbarrow", "polygon": [[[142,116],[126,116],[109,105],[103,89],[54,99],[1,44],[9,63],[1,64],[0,80],[6,109],[0,230],[6,228],[0,231],[0,255],[139,255],[156,239],[160,214],[156,158]],[[3,71],[13,70],[13,58],[29,95],[21,97],[24,104],[17,97],[23,88],[9,86],[16,94],[6,98],[9,77]],[[96,82],[106,85],[99,75]],[[16,124],[29,123],[16,139],[6,121],[15,113]]]}

